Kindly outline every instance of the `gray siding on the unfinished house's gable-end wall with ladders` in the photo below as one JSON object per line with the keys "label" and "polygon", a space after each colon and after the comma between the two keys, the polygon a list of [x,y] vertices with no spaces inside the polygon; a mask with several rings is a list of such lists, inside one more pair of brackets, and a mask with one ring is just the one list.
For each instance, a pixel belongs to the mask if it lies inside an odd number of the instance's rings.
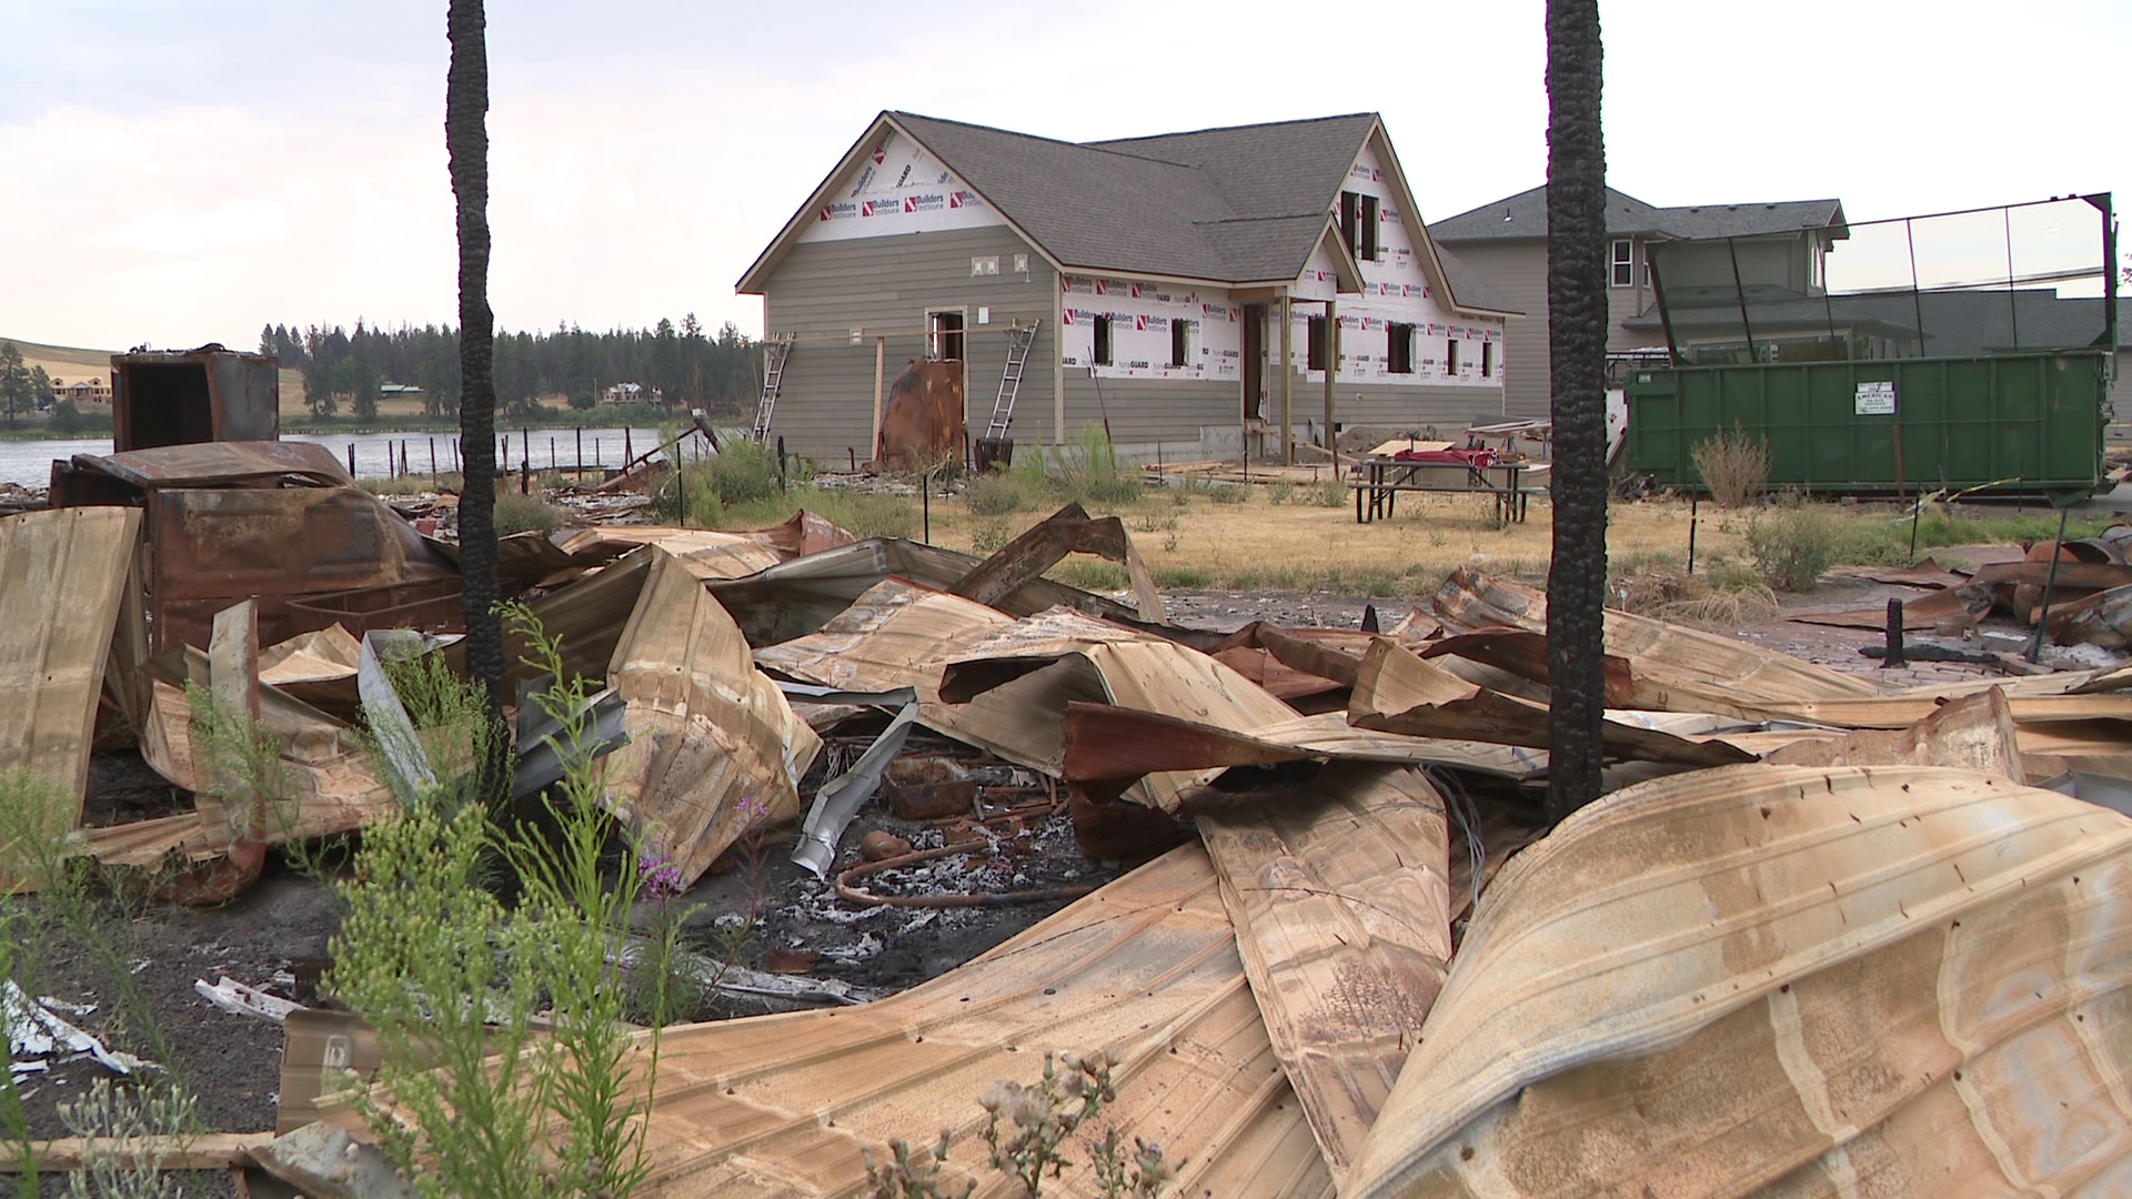
{"label": "gray siding on the unfinished house's gable-end wall with ladders", "polygon": [[[972,256],[1000,256],[998,275],[970,275]],[[1015,254],[1030,256],[1028,273],[1013,273]],[[908,233],[851,241],[793,245],[763,282],[770,337],[797,333],[785,384],[770,422],[770,437],[787,450],[849,463],[872,454],[874,335],[887,333],[883,390],[910,358],[925,354],[925,311],[964,309],[966,412],[972,437],[983,435],[1006,369],[1006,337],[1015,320],[1043,320],[1015,403],[1015,435],[1051,435],[1057,337],[1051,320],[1057,273],[1008,228]],[[989,307],[989,324],[976,309]],[[861,329],[861,343],[849,335]]]}

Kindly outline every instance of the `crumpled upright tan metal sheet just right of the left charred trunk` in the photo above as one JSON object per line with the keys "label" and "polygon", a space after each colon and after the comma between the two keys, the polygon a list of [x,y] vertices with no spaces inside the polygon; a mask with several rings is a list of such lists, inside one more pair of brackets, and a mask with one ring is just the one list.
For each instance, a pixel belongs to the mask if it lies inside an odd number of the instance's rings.
{"label": "crumpled upright tan metal sheet just right of the left charred trunk", "polygon": [[629,730],[608,757],[608,794],[693,883],[748,828],[800,815],[800,777],[821,738],[704,585],[659,546],[637,553],[648,557],[642,593],[603,672]]}

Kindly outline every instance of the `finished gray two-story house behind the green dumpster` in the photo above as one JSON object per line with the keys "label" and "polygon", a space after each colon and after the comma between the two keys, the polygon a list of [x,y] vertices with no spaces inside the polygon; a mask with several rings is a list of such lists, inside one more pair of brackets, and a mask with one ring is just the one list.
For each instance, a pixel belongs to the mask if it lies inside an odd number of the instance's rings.
{"label": "finished gray two-story house behind the green dumpster", "polygon": [[[1727,288],[1738,279],[1750,294],[1819,297],[1825,292],[1825,258],[1848,237],[1842,201],[1791,201],[1774,205],[1699,205],[1661,209],[1608,188],[1608,352],[1665,352],[1665,331],[1657,326],[1657,292],[1648,247],[1661,241],[1750,237],[1727,247],[1676,247],[1661,252],[1667,297],[1706,279]],[[1548,414],[1548,188],[1439,220],[1428,226],[1437,245],[1458,258],[1512,305],[1524,311],[1507,333],[1505,401],[1512,414]],[[1819,305],[1814,305],[1819,311]],[[1806,314],[1802,309],[1802,320]],[[1640,320],[1648,318],[1648,320]],[[1723,314],[1712,309],[1712,329],[1678,329],[1686,341],[1725,339]],[[1731,324],[1738,331],[1738,322]],[[1853,331],[1893,337],[1900,329]]]}

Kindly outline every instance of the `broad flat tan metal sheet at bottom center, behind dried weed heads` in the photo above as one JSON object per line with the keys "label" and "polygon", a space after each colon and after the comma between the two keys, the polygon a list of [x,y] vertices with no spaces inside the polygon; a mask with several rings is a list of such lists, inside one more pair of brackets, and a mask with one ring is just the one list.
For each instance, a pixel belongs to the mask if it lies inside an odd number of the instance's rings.
{"label": "broad flat tan metal sheet at bottom center, behind dried weed heads", "polygon": [[[947,1129],[942,1173],[959,1195],[985,1152],[976,1097],[996,1080],[1034,1084],[1047,1052],[1096,1048],[1119,1058],[1104,1120],[1170,1150],[1170,1195],[1332,1199],[1198,845],[902,994],[665,1030],[635,1193],[859,1195],[861,1152],[887,1158],[889,1139],[930,1144]],[[1045,1195],[1100,1195],[1079,1139],[1066,1158]],[[1004,1199],[1008,1184],[983,1173],[979,1195]],[[305,1193],[330,1195],[316,1182]]]}

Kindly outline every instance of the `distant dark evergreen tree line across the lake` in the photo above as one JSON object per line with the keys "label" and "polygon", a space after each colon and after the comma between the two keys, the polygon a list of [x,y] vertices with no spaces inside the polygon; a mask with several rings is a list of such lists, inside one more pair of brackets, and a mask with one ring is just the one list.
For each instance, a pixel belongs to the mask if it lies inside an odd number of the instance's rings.
{"label": "distant dark evergreen tree line across the lake", "polygon": [[[269,324],[260,354],[303,371],[303,401],[316,416],[345,405],[356,418],[377,416],[384,384],[422,388],[422,412],[458,414],[458,333],[450,326],[373,329]],[[593,407],[614,384],[640,384],[667,405],[742,412],[761,388],[759,343],[733,322],[716,337],[691,311],[674,324],[588,333],[559,324],[552,333],[497,333],[497,410],[535,416],[544,399]]]}

